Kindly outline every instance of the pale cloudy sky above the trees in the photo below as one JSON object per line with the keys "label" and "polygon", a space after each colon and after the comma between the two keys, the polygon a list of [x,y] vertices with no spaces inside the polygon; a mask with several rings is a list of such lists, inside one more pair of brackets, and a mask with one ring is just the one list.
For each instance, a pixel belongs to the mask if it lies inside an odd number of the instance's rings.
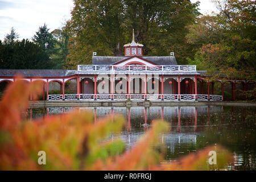
{"label": "pale cloudy sky above the trees", "polygon": [[[200,2],[202,14],[216,10],[211,0]],[[44,23],[50,31],[60,28],[71,18],[72,7],[73,0],[0,0],[0,39],[9,34],[11,27],[19,39],[31,39]]]}

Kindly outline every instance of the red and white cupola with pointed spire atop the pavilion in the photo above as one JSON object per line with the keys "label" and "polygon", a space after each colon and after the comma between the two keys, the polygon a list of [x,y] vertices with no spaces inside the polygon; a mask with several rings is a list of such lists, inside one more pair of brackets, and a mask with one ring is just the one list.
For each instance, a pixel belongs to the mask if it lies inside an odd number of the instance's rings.
{"label": "red and white cupola with pointed spire atop the pavilion", "polygon": [[142,56],[143,44],[135,42],[134,29],[133,29],[133,40],[129,44],[125,44],[125,56]]}

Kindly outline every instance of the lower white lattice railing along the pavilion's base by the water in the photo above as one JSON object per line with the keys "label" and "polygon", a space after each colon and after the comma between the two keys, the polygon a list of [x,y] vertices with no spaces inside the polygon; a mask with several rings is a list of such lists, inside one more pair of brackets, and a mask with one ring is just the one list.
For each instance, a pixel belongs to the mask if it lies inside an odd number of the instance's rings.
{"label": "lower white lattice railing along the pavilion's base by the water", "polygon": [[[133,101],[208,101],[207,94],[54,94],[48,95],[48,101],[88,101],[88,100],[98,100],[98,101],[126,101],[128,99]],[[222,101],[222,96],[210,95],[210,101]]]}

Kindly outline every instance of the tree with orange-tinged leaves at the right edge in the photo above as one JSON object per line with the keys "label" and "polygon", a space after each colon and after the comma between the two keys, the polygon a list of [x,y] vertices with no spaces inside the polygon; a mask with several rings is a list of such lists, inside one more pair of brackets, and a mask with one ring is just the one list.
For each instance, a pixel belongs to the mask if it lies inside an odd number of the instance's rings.
{"label": "tree with orange-tinged leaves at the right edge", "polygon": [[[220,12],[201,16],[189,26],[187,42],[196,50],[194,60],[204,68],[230,77],[255,80],[255,2],[215,1]],[[232,74],[230,74],[232,73]]]}

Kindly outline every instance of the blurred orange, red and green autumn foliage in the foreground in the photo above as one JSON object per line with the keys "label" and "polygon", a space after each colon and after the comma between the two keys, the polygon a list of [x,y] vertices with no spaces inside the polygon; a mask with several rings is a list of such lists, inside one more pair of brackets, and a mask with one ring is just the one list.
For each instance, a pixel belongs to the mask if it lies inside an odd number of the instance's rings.
{"label": "blurred orange, red and green autumn foliage in the foreground", "polygon": [[[159,134],[169,131],[164,121],[154,121],[150,130],[130,151],[120,139],[124,119],[116,115],[92,122],[91,113],[55,115],[26,121],[28,97],[39,96],[42,82],[16,81],[0,102],[0,170],[209,170],[223,169],[232,162],[229,151],[220,146],[164,161]],[[209,151],[217,152],[217,165],[209,166]],[[38,164],[38,152],[46,152],[46,165]]]}

